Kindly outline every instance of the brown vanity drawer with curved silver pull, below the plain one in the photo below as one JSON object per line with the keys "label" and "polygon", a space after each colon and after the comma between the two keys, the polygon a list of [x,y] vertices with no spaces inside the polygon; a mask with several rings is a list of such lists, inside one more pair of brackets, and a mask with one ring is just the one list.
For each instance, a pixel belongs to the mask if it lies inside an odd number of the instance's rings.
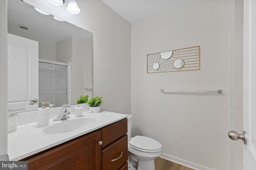
{"label": "brown vanity drawer with curved silver pull, below the plain one", "polygon": [[125,135],[101,152],[102,170],[118,170],[128,160],[128,137]]}

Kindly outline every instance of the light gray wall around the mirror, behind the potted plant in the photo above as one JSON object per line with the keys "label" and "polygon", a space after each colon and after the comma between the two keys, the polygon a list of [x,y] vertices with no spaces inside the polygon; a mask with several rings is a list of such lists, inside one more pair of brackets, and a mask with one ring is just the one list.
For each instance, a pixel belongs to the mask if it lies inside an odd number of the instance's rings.
{"label": "light gray wall around the mirror, behind the potted plant", "polygon": [[93,93],[102,96],[101,110],[130,113],[131,25],[101,0],[77,0],[80,14],[48,1],[24,0],[93,34]]}

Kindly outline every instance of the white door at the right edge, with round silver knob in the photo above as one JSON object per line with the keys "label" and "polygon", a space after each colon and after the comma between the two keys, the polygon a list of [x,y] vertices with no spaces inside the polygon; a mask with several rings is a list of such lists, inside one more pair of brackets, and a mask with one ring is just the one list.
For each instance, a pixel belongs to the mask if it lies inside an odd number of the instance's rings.
{"label": "white door at the right edge, with round silver knob", "polygon": [[256,169],[256,1],[244,0],[244,170]]}

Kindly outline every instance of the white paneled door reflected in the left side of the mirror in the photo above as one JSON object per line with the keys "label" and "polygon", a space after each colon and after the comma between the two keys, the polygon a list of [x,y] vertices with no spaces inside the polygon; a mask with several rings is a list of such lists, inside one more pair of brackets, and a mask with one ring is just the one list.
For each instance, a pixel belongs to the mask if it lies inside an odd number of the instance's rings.
{"label": "white paneled door reflected in the left side of the mirror", "polygon": [[8,34],[8,108],[26,111],[38,99],[38,42]]}

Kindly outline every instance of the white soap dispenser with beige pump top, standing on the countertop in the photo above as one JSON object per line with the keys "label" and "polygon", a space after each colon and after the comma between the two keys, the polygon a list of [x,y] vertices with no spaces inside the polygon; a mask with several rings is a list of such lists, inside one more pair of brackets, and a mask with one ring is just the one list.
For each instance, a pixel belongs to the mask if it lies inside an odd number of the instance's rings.
{"label": "white soap dispenser with beige pump top, standing on the countertop", "polygon": [[47,102],[42,102],[42,106],[38,108],[37,111],[37,126],[48,126],[49,125],[49,116],[50,116],[50,108],[46,107]]}

